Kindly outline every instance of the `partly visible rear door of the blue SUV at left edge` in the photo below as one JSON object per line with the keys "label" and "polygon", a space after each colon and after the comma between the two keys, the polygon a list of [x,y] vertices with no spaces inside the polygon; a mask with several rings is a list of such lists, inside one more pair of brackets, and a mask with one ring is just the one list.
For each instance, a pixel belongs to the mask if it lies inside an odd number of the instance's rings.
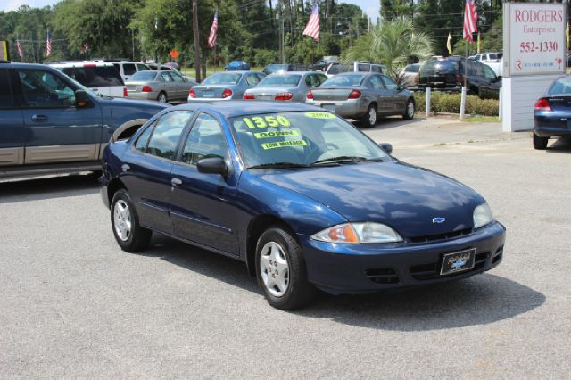
{"label": "partly visible rear door of the blue SUV at left edge", "polygon": [[12,91],[11,82],[17,80],[13,74],[0,69],[0,167],[24,163],[24,119]]}

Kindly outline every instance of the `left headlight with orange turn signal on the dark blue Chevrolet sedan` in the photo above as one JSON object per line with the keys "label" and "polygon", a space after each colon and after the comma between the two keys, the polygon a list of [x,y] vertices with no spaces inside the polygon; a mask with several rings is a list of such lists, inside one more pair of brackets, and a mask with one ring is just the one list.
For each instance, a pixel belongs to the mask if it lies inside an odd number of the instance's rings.
{"label": "left headlight with orange turn signal on the dark blue Chevrolet sedan", "polygon": [[402,241],[401,235],[393,228],[380,223],[343,223],[329,227],[315,235],[312,239],[327,243],[397,243]]}

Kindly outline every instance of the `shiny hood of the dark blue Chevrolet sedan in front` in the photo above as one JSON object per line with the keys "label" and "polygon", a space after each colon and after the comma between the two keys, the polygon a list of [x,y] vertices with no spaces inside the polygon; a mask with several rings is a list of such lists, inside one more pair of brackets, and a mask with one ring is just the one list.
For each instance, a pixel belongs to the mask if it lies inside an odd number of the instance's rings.
{"label": "shiny hood of the dark blue Chevrolet sedan in front", "polygon": [[[325,204],[349,221],[393,227],[404,237],[440,235],[474,226],[484,198],[451,178],[401,162],[264,170],[252,174]],[[434,218],[444,218],[440,223]]]}

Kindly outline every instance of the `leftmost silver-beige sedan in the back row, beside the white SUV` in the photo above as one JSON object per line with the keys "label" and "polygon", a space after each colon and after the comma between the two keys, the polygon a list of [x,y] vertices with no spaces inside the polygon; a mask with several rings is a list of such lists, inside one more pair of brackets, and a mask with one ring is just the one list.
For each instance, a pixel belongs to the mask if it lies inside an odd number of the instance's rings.
{"label": "leftmost silver-beige sedan in the back row, beside the white SUV", "polygon": [[128,97],[161,103],[186,100],[188,92],[196,84],[177,72],[167,70],[139,71],[125,82]]}

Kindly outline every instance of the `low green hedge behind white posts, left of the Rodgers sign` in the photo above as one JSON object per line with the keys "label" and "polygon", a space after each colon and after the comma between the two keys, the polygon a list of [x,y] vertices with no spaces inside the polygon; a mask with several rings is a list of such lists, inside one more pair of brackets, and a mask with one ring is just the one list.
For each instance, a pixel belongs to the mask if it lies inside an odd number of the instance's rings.
{"label": "low green hedge behind white posts, left of the Rodgers sign", "polygon": [[[461,95],[458,93],[447,94],[439,91],[431,93],[430,112],[460,112]],[[418,112],[426,112],[426,93],[414,93]],[[480,99],[475,95],[468,95],[466,99],[466,113],[482,116],[498,116],[500,103],[497,99]]]}

